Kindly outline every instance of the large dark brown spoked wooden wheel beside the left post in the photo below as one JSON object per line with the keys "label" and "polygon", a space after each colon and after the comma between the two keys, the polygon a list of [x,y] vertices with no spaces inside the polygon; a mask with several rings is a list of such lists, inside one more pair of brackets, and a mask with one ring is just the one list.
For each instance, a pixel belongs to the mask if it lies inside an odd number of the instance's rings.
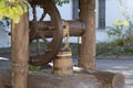
{"label": "large dark brown spoked wooden wheel beside the left post", "polygon": [[[61,47],[63,25],[59,11],[52,0],[31,0],[30,3],[33,11],[33,20],[30,21],[30,43],[37,43],[35,54],[30,54],[30,63],[33,65],[44,65],[55,57]],[[40,7],[43,10],[39,20],[35,7]],[[45,24],[47,29],[43,29],[40,23],[44,21],[45,15],[50,16],[50,25]],[[44,36],[47,30],[52,34],[49,40],[48,36]],[[45,46],[44,48],[41,48],[40,38],[41,44],[43,42]]]}

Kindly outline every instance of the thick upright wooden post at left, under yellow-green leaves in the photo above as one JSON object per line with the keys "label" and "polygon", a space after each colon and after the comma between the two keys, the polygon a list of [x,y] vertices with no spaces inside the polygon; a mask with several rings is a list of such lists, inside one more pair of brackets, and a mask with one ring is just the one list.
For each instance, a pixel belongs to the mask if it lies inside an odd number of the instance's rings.
{"label": "thick upright wooden post at left, under yellow-green leaves", "polygon": [[29,61],[29,19],[23,14],[11,31],[12,88],[27,88]]}

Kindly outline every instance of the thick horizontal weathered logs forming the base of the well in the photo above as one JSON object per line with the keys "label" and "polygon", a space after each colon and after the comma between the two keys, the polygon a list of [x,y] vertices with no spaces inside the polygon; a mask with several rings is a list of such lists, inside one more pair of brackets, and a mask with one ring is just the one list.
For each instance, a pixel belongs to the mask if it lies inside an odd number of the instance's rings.
{"label": "thick horizontal weathered logs forming the base of the well", "polygon": [[[11,88],[11,73],[0,69],[0,88]],[[123,88],[124,76],[109,72],[85,70],[71,76],[29,73],[28,88]]]}

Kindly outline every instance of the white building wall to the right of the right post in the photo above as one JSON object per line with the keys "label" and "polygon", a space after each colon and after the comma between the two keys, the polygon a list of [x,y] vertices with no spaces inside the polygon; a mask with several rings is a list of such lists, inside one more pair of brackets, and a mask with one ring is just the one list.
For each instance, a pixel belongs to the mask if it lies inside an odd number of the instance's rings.
{"label": "white building wall to the right of the right post", "polygon": [[[99,30],[98,29],[98,1],[96,0],[96,20],[95,20],[95,28],[96,28],[96,42],[103,42],[109,41],[109,36],[106,34],[106,30]],[[124,4],[125,14],[130,14],[133,16],[133,0],[122,0]],[[106,0],[106,9],[105,9],[105,26],[111,26],[115,20],[124,20],[124,16],[122,15],[122,11],[120,8],[119,0]],[[133,19],[133,18],[132,18]]]}

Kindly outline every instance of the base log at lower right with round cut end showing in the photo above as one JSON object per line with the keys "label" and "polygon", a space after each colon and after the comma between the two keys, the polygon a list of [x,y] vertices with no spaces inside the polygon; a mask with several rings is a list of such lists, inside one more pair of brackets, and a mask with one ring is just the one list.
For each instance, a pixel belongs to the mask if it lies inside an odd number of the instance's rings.
{"label": "base log at lower right with round cut end showing", "polygon": [[101,70],[85,70],[85,73],[93,75],[103,85],[103,88],[123,88],[125,85],[122,74]]}

